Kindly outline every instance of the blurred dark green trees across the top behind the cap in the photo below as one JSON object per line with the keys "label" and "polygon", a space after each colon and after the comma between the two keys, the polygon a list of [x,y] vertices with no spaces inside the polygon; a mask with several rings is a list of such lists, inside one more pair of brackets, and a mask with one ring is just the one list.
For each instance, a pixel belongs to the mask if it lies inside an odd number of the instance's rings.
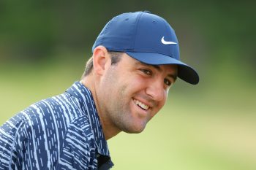
{"label": "blurred dark green trees across the top behind the cap", "polygon": [[249,0],[0,1],[0,60],[36,62],[61,51],[90,52],[110,18],[146,9],[173,24],[181,54],[206,64],[227,60],[255,68],[254,8]]}

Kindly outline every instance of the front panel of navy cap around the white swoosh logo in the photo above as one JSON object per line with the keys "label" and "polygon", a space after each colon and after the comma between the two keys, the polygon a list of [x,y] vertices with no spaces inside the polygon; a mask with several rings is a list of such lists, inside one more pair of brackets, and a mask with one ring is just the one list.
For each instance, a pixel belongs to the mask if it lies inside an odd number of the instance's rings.
{"label": "front panel of navy cap around the white swoosh logo", "polygon": [[[176,44],[165,45],[162,39]],[[179,58],[178,40],[173,28],[163,18],[146,12],[143,12],[138,21],[134,51],[160,53]]]}

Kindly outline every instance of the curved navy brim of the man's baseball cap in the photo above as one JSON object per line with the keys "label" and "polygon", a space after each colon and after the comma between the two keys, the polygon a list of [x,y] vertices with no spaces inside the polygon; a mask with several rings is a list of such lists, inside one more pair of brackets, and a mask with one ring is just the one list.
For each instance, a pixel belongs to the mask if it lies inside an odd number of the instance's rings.
{"label": "curved navy brim of the man's baseball cap", "polygon": [[[188,66],[186,63],[182,63],[174,58],[159,53],[137,53],[137,52],[126,52],[127,55],[137,59],[143,63],[151,65],[162,65],[162,64],[176,64],[178,65],[178,77],[185,82],[189,82],[192,85],[196,85],[199,82],[199,76],[195,69]],[[156,59],[157,58],[157,59]]]}

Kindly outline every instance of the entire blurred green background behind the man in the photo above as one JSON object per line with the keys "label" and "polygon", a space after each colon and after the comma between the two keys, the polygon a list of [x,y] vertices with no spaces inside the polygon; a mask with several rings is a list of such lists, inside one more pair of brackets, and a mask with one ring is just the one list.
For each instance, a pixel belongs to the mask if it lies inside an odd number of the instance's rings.
{"label": "entire blurred green background behind the man", "polygon": [[255,1],[0,1],[0,124],[80,80],[99,31],[149,10],[176,30],[199,85],[178,80],[141,134],[108,141],[113,169],[256,169]]}

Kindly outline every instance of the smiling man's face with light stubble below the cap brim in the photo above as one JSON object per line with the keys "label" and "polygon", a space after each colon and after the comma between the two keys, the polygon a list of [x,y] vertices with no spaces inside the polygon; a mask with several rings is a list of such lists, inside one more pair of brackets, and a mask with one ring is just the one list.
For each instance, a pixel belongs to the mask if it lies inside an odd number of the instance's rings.
{"label": "smiling man's face with light stubble below the cap brim", "polygon": [[140,133],[159,112],[176,80],[176,65],[151,66],[126,53],[111,65],[99,82],[99,108],[105,125]]}

